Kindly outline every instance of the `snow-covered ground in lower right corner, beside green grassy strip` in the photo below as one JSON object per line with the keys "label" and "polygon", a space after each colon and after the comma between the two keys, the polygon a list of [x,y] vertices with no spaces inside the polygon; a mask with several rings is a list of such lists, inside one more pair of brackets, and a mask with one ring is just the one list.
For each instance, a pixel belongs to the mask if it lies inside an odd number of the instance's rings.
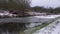
{"label": "snow-covered ground in lower right corner, beside green grassy strip", "polygon": [[60,19],[33,34],[60,34]]}

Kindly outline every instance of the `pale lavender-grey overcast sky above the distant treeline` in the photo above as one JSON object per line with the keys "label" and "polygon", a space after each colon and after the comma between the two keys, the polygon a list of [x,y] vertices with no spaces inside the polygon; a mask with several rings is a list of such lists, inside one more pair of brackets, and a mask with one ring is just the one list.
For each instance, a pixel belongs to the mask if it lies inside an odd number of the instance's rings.
{"label": "pale lavender-grey overcast sky above the distant treeline", "polygon": [[60,7],[60,0],[32,0],[31,6]]}

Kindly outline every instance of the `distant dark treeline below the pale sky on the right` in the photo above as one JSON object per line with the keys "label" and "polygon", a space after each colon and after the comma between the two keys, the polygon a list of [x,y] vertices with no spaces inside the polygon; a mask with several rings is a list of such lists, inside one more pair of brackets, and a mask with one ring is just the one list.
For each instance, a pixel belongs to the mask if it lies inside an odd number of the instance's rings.
{"label": "distant dark treeline below the pale sky on the right", "polygon": [[58,14],[60,13],[60,7],[57,8],[44,8],[44,7],[32,7],[31,10],[36,12],[45,12],[45,13],[52,13],[52,14]]}

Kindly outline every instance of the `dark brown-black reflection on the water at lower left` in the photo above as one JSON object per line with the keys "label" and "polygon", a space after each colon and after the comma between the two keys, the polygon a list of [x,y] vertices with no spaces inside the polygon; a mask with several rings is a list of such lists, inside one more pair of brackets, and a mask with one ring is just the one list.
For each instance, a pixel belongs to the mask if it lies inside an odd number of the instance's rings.
{"label": "dark brown-black reflection on the water at lower left", "polygon": [[19,34],[25,28],[24,23],[5,23],[0,24],[0,34]]}

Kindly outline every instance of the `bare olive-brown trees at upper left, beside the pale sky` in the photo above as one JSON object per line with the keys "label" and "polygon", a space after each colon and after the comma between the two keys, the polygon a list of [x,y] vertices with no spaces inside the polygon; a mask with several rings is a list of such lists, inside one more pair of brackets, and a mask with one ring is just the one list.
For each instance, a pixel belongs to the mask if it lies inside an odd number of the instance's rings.
{"label": "bare olive-brown trees at upper left, beside the pale sky", "polygon": [[25,9],[30,8],[30,0],[3,0],[2,2],[2,8],[20,10],[18,13],[22,11],[23,16]]}

